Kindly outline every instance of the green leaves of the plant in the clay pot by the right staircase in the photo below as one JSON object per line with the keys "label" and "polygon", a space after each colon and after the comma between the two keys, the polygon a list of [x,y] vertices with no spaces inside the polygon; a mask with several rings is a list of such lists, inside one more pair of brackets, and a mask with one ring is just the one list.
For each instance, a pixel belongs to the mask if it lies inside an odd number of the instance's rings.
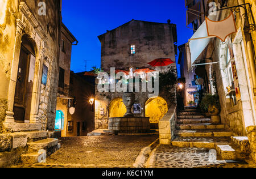
{"label": "green leaves of the plant in the clay pot by the right staircase", "polygon": [[209,106],[214,105],[217,109],[220,109],[220,100],[218,95],[205,94],[200,103],[200,108],[204,112],[208,113]]}

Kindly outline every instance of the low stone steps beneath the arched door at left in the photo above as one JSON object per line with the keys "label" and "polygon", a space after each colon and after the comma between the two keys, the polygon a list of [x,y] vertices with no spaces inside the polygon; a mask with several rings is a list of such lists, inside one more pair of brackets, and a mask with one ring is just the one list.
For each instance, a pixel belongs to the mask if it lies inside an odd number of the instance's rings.
{"label": "low stone steps beneath the arched door at left", "polygon": [[[5,155],[20,148],[22,153],[16,158],[20,159],[22,163],[39,163],[60,148],[59,139],[53,137],[55,137],[55,131],[0,134],[0,154],[2,153],[1,156],[4,159]],[[2,161],[3,165],[4,163],[5,161]]]}

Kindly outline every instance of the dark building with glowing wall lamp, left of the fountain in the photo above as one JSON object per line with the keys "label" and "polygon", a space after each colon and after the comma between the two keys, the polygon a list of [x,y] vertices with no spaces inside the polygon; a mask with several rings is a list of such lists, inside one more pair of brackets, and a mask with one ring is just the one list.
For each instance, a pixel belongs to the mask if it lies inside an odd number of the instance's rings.
{"label": "dark building with glowing wall lamp, left of the fountain", "polygon": [[75,113],[68,115],[67,137],[86,136],[94,130],[94,84],[87,82],[84,73],[71,71],[70,92]]}

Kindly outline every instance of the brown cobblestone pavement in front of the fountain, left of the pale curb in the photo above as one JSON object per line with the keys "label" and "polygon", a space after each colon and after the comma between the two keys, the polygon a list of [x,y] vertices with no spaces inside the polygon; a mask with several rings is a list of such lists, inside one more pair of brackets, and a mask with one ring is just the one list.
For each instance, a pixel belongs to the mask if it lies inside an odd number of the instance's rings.
{"label": "brown cobblestone pavement in front of the fountain, left of the pale curb", "polygon": [[21,168],[112,168],[131,167],[141,152],[158,135],[61,138],[61,148],[46,164],[21,164]]}

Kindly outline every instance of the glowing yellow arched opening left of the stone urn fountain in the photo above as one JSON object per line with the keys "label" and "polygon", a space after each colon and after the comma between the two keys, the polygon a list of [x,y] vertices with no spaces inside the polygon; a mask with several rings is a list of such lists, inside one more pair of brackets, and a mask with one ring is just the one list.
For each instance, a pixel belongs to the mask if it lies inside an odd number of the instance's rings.
{"label": "glowing yellow arched opening left of the stone urn fountain", "polygon": [[126,106],[123,104],[122,98],[111,101],[109,105],[109,117],[123,117],[126,113]]}

